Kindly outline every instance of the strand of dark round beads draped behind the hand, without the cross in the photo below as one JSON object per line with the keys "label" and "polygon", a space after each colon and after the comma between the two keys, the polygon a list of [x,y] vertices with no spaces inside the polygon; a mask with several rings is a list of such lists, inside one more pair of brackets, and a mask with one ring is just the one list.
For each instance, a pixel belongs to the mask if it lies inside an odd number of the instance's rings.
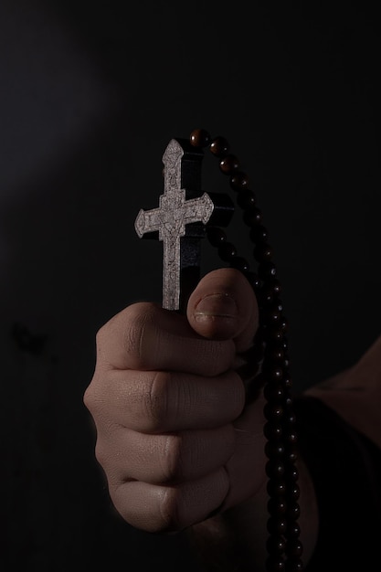
{"label": "strand of dark round beads draped behind the hand, without the cross", "polygon": [[228,141],[221,136],[212,139],[204,129],[190,135],[190,143],[198,148],[208,147],[219,162],[220,171],[228,175],[229,184],[237,193],[243,222],[249,227],[253,243],[253,256],[257,272],[249,270],[249,263],[238,256],[236,247],[228,241],[222,228],[206,228],[206,236],[217,248],[221,260],[243,272],[253,287],[259,303],[259,330],[250,350],[247,388],[248,402],[258,396],[263,387],[266,404],[265,453],[268,477],[268,540],[267,572],[301,572],[302,543],[298,470],[296,467],[297,434],[291,395],[290,358],[288,355],[288,323],[283,316],[280,299],[281,287],[269,245],[269,232],[263,226],[262,212],[257,206],[255,193],[249,189],[249,177],[239,168],[236,155],[229,151]]}

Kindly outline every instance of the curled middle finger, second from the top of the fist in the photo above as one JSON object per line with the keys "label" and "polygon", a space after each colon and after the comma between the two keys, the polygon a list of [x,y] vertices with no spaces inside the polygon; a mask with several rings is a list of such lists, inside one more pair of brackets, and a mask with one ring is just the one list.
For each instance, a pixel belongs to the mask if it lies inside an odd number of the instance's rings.
{"label": "curled middle finger, second from the top of the fist", "polygon": [[144,433],[213,429],[238,418],[245,388],[237,373],[200,377],[114,370],[97,375],[85,403],[97,424]]}

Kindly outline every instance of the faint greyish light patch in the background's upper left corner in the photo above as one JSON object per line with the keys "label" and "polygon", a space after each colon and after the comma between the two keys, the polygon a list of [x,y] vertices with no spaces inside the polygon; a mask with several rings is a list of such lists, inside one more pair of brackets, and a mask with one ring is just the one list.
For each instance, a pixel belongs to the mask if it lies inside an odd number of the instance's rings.
{"label": "faint greyish light patch in the background's upper left corner", "polygon": [[37,2],[0,4],[0,205],[19,200],[118,105],[64,23]]}

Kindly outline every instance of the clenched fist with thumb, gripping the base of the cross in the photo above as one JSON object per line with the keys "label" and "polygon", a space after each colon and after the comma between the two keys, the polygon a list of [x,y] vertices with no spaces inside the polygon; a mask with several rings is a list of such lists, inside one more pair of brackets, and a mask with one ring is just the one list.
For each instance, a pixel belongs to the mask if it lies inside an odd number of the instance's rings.
{"label": "clenched fist with thumb, gripping the base of the cross", "polygon": [[132,526],[185,529],[258,492],[263,397],[245,407],[235,371],[259,310],[238,271],[214,270],[185,315],[139,302],[97,334],[84,395],[111,501]]}

